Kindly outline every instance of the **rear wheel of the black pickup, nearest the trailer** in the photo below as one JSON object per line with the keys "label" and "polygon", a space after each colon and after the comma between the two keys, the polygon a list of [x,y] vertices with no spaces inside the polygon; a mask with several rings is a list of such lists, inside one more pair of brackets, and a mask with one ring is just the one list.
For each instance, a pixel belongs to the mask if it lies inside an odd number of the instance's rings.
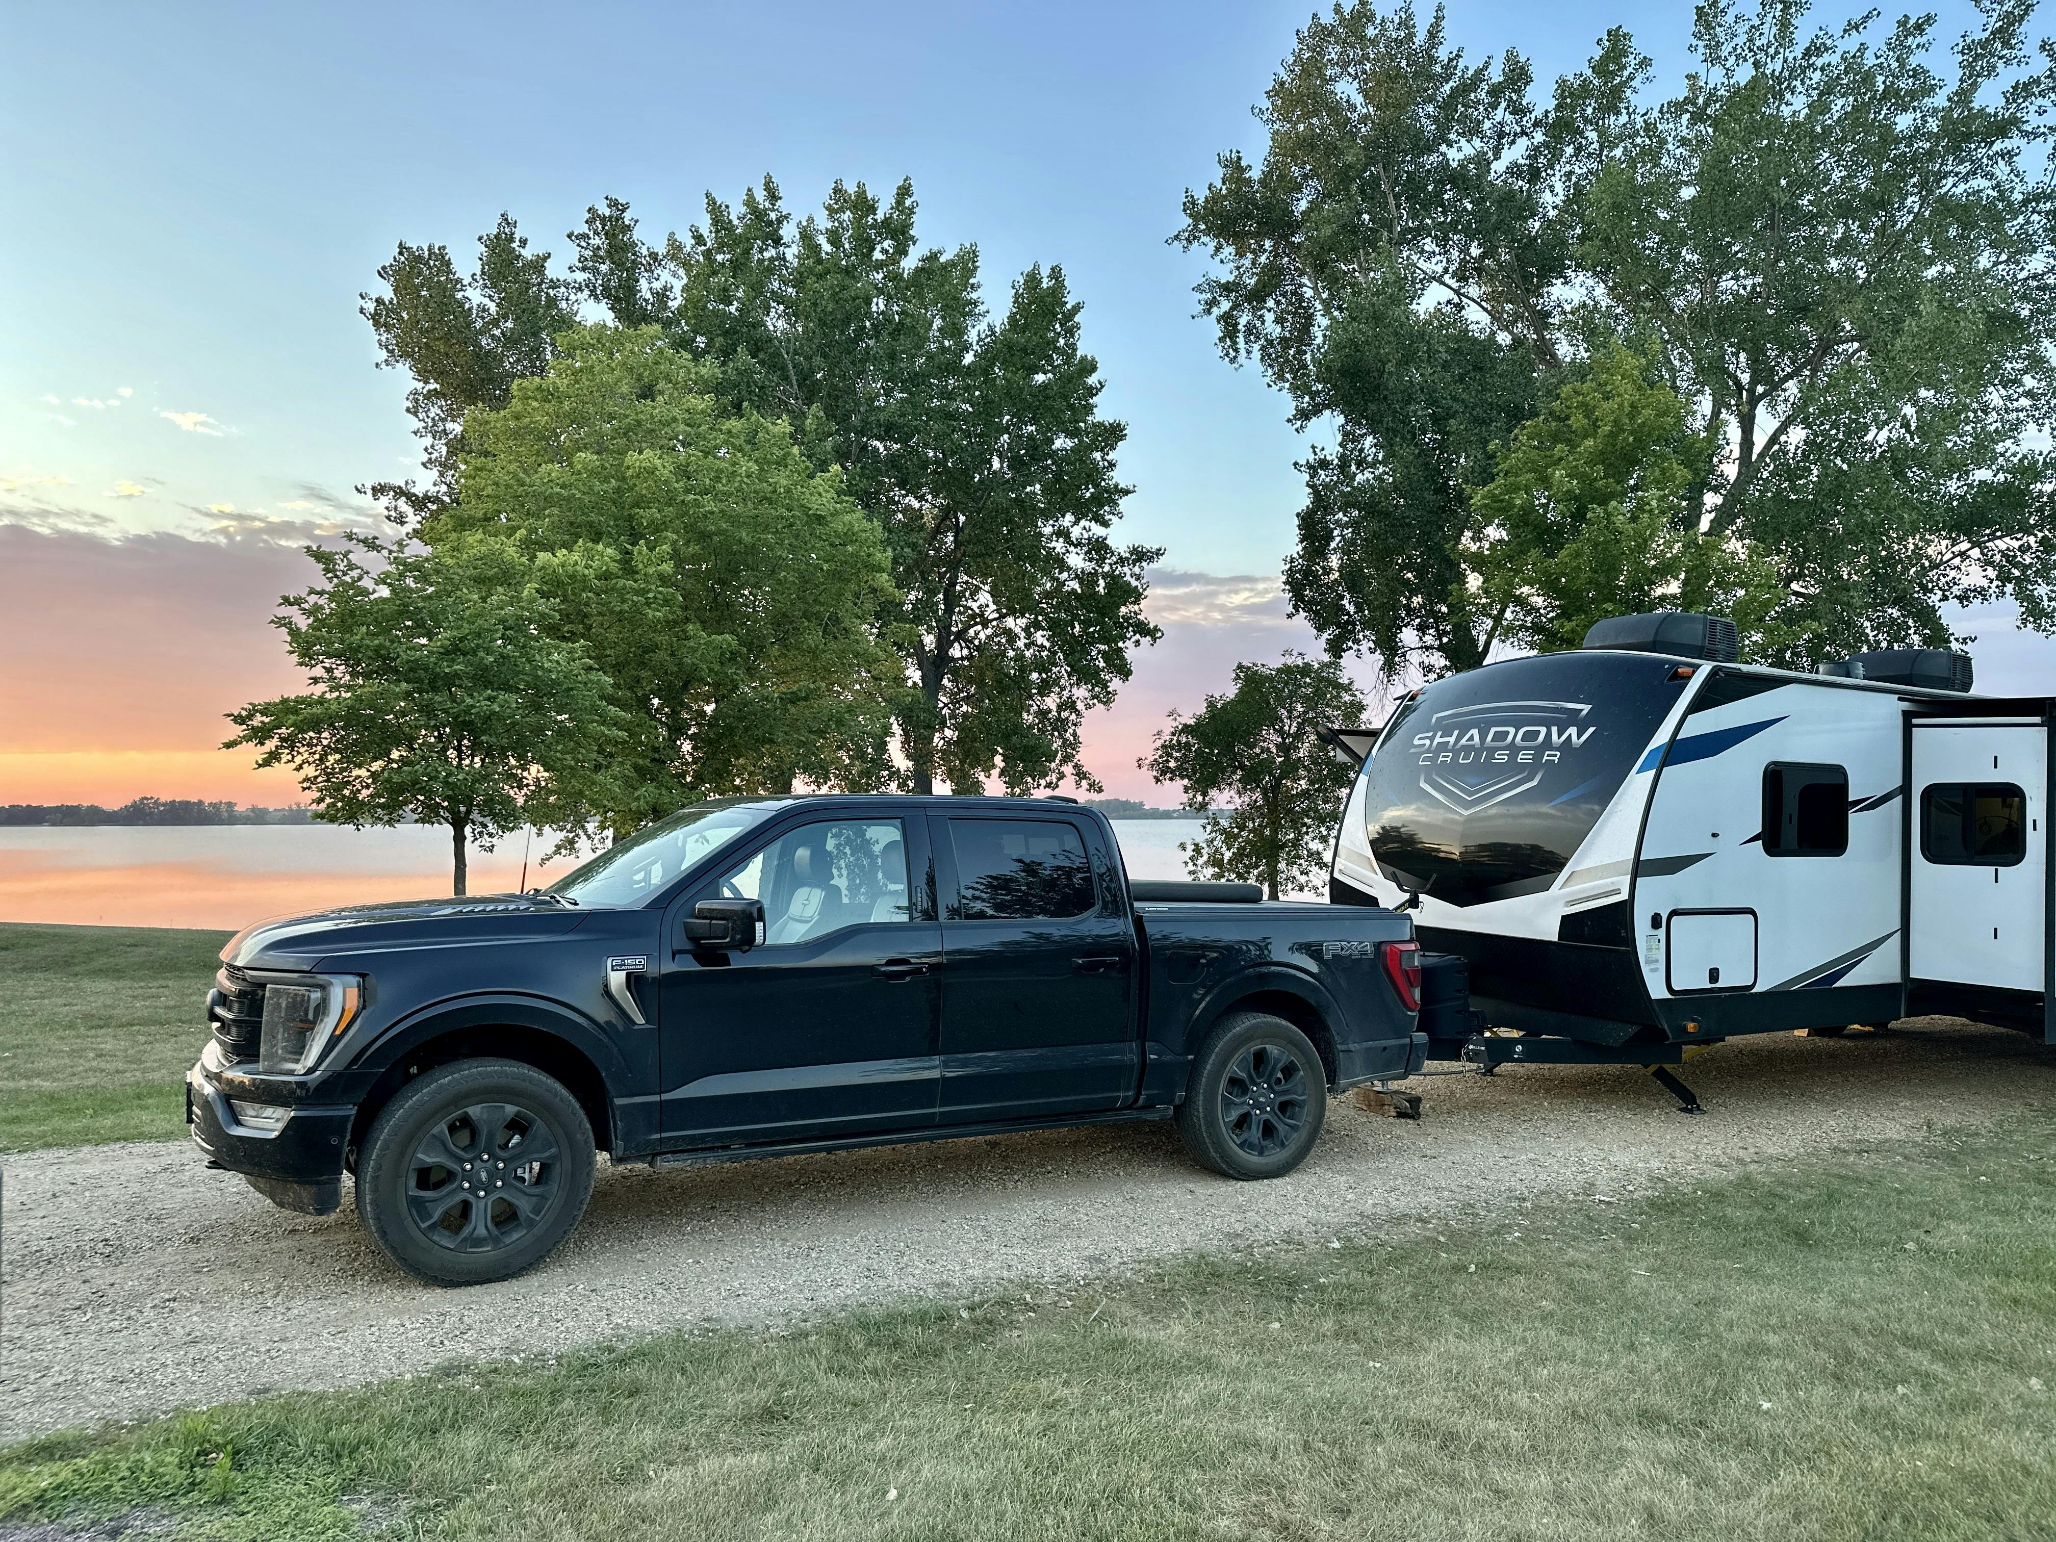
{"label": "rear wheel of the black pickup, nearest the trailer", "polygon": [[1283,1018],[1238,1012],[1192,1057],[1178,1133],[1227,1178],[1281,1178],[1306,1162],[1326,1114],[1314,1042]]}

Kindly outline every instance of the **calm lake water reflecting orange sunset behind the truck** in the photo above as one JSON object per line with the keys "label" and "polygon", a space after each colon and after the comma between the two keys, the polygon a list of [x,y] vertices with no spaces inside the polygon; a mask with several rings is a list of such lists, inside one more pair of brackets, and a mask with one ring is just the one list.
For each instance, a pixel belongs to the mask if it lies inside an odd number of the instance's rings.
{"label": "calm lake water reflecting orange sunset behind the truck", "polygon": [[[1116,818],[1135,878],[1184,878],[1178,841],[1197,818]],[[570,861],[541,866],[528,849],[528,886]],[[522,882],[524,837],[471,853],[471,892]],[[241,929],[271,915],[450,892],[450,833],[426,824],[352,831],[337,824],[95,824],[0,827],[0,921],[123,927]]]}

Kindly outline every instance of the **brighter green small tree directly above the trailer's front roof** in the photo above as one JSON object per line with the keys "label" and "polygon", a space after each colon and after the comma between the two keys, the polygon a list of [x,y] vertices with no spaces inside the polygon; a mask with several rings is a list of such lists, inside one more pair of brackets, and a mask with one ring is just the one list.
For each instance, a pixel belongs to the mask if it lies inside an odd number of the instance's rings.
{"label": "brighter green small tree directly above the trailer's front roof", "polygon": [[1464,559],[1497,635],[1577,648],[1602,617],[1678,609],[1731,615],[1762,641],[1776,574],[1733,537],[1700,530],[1694,489],[1709,458],[1647,358],[1612,345],[1569,372],[1470,495]]}

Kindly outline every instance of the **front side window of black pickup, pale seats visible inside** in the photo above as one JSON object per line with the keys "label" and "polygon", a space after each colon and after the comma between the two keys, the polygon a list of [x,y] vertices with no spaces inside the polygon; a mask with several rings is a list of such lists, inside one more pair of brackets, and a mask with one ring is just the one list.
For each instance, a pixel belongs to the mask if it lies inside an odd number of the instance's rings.
{"label": "front side window of black pickup, pale seats visible inside", "polygon": [[734,868],[722,898],[765,903],[765,944],[907,919],[907,843],[896,818],[818,820]]}

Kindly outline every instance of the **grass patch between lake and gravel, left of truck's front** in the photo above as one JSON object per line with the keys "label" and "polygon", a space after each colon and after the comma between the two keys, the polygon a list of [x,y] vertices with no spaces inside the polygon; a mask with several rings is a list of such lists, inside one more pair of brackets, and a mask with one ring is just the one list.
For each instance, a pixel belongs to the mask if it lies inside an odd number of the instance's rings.
{"label": "grass patch between lake and gravel, left of truck's front", "polygon": [[185,1133],[226,931],[0,925],[0,1151]]}

